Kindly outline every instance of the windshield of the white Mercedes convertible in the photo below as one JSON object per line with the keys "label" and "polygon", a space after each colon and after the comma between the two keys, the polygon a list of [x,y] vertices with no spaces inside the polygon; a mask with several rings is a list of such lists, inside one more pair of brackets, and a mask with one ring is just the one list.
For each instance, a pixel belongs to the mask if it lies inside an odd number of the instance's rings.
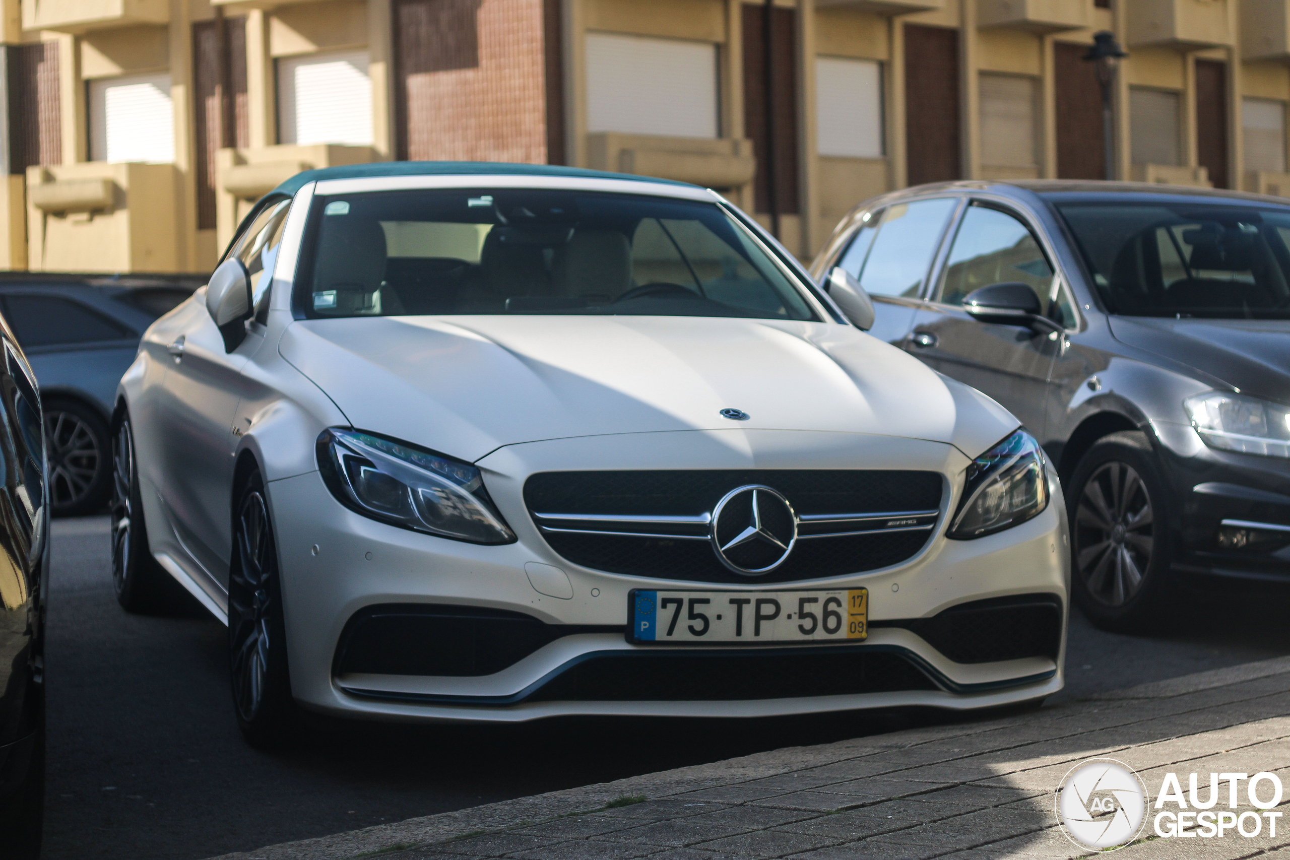
{"label": "windshield of the white Mercedes convertible", "polygon": [[547,190],[313,201],[306,316],[579,313],[815,320],[801,289],[715,204]]}

